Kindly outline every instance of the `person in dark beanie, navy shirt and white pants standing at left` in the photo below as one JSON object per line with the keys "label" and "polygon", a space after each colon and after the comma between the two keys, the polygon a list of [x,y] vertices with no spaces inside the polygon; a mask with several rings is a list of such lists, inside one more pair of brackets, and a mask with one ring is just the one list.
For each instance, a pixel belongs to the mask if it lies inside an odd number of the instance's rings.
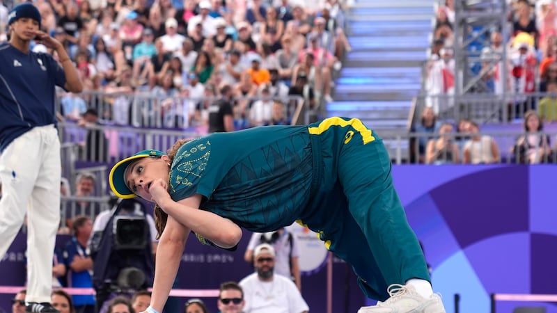
{"label": "person in dark beanie, navy shirt and white pants standing at left", "polygon": [[[8,15],[10,41],[0,45],[0,258],[27,214],[26,312],[58,313],[50,305],[52,258],[60,223],[60,141],[55,87],[83,89],[79,74],[58,40],[40,31],[31,3]],[[58,54],[30,51],[31,40]]]}

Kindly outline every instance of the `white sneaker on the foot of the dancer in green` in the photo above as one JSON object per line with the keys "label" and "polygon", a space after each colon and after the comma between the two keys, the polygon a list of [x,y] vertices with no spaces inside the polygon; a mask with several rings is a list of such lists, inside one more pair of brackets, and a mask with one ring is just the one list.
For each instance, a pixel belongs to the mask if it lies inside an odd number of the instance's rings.
{"label": "white sneaker on the foot of the dancer in green", "polygon": [[414,286],[402,284],[391,284],[387,290],[391,298],[371,307],[361,307],[358,313],[446,313],[438,294],[426,299]]}

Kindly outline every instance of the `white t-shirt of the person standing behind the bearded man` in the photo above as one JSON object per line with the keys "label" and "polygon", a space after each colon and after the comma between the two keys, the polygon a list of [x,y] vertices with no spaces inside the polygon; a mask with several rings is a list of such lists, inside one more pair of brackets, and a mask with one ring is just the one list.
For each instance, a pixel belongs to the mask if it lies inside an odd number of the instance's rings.
{"label": "white t-shirt of the person standing behind the bearded man", "polygon": [[[289,232],[284,230],[278,240],[275,241],[272,246],[275,250],[276,257],[274,263],[274,273],[283,275],[290,278],[290,241],[288,240]],[[247,250],[255,250],[256,246],[261,243],[261,233],[254,232],[249,239]],[[299,257],[299,245],[297,238],[292,234],[292,257]]]}

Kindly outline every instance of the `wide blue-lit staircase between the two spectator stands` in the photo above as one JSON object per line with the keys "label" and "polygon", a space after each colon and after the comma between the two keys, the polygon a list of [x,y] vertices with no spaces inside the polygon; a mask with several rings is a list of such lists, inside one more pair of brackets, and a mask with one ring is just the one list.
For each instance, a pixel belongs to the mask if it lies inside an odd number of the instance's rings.
{"label": "wide blue-lit staircase between the two spectator stands", "polygon": [[[381,134],[407,132],[421,89],[435,0],[356,0],[346,11],[352,51],[336,80],[328,116],[360,118]],[[400,144],[400,143],[398,143]]]}

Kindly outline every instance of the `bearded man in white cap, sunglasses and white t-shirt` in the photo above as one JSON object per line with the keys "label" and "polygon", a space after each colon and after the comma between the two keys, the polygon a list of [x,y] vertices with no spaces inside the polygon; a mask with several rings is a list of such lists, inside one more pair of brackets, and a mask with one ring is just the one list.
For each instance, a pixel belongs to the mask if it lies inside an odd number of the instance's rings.
{"label": "bearded man in white cap, sunglasses and white t-shirt", "polygon": [[290,278],[274,274],[273,246],[262,243],[253,250],[256,273],[240,281],[244,289],[245,313],[304,313],[309,307]]}

